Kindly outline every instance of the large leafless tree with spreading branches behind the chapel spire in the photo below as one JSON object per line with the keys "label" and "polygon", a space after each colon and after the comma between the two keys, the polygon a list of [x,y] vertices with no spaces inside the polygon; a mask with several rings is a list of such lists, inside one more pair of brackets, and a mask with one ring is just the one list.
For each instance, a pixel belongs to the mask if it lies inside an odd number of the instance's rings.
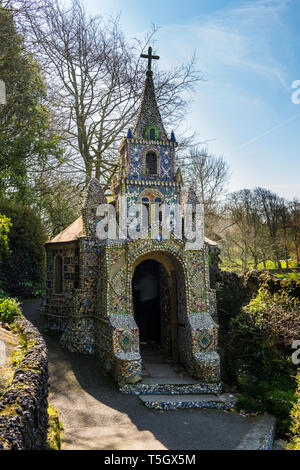
{"label": "large leafless tree with spreading branches behind the chapel spire", "polygon": [[[56,125],[68,149],[65,171],[91,176],[109,186],[117,148],[133,124],[144,82],[140,53],[153,40],[128,41],[118,17],[88,16],[79,0],[69,8],[57,0],[40,0],[25,11],[25,38],[38,55],[49,86]],[[192,90],[201,79],[193,56],[189,64],[155,73],[162,118],[178,123]],[[80,177],[80,176],[79,176]]]}

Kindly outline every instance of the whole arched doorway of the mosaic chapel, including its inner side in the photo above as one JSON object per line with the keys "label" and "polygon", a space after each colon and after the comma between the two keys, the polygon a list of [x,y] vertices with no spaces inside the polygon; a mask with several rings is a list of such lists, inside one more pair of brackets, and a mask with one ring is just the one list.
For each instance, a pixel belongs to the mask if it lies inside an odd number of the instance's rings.
{"label": "whole arched doorway of the mosaic chapel, including its inner side", "polygon": [[132,295],[141,344],[158,344],[170,359],[185,364],[186,292],[181,263],[169,253],[143,255],[133,266]]}

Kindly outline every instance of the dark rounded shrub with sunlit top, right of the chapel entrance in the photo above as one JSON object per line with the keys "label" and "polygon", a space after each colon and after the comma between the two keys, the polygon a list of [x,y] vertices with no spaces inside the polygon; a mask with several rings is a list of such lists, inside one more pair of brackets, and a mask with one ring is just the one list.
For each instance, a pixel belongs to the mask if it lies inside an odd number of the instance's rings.
{"label": "dark rounded shrub with sunlit top, right of the chapel entrance", "polygon": [[299,302],[286,293],[258,295],[231,321],[225,366],[231,375],[241,373],[262,380],[290,382],[295,375],[291,344],[300,338]]}

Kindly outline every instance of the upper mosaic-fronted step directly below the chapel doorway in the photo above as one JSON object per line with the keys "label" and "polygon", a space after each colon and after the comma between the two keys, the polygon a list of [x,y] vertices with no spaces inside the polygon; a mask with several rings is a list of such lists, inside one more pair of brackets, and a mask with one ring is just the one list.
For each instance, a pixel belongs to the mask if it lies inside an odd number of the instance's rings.
{"label": "upper mosaic-fronted step directly below the chapel doorway", "polygon": [[127,395],[193,395],[221,393],[221,384],[199,383],[191,377],[144,378],[137,384],[120,385],[121,393]]}

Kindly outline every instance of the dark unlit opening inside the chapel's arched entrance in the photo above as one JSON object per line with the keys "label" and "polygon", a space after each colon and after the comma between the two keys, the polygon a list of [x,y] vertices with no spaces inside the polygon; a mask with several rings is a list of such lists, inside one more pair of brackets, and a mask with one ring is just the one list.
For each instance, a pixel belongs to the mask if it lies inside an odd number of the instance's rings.
{"label": "dark unlit opening inside the chapel's arched entrance", "polygon": [[142,261],[132,279],[134,318],[141,343],[161,341],[159,266],[155,260]]}

